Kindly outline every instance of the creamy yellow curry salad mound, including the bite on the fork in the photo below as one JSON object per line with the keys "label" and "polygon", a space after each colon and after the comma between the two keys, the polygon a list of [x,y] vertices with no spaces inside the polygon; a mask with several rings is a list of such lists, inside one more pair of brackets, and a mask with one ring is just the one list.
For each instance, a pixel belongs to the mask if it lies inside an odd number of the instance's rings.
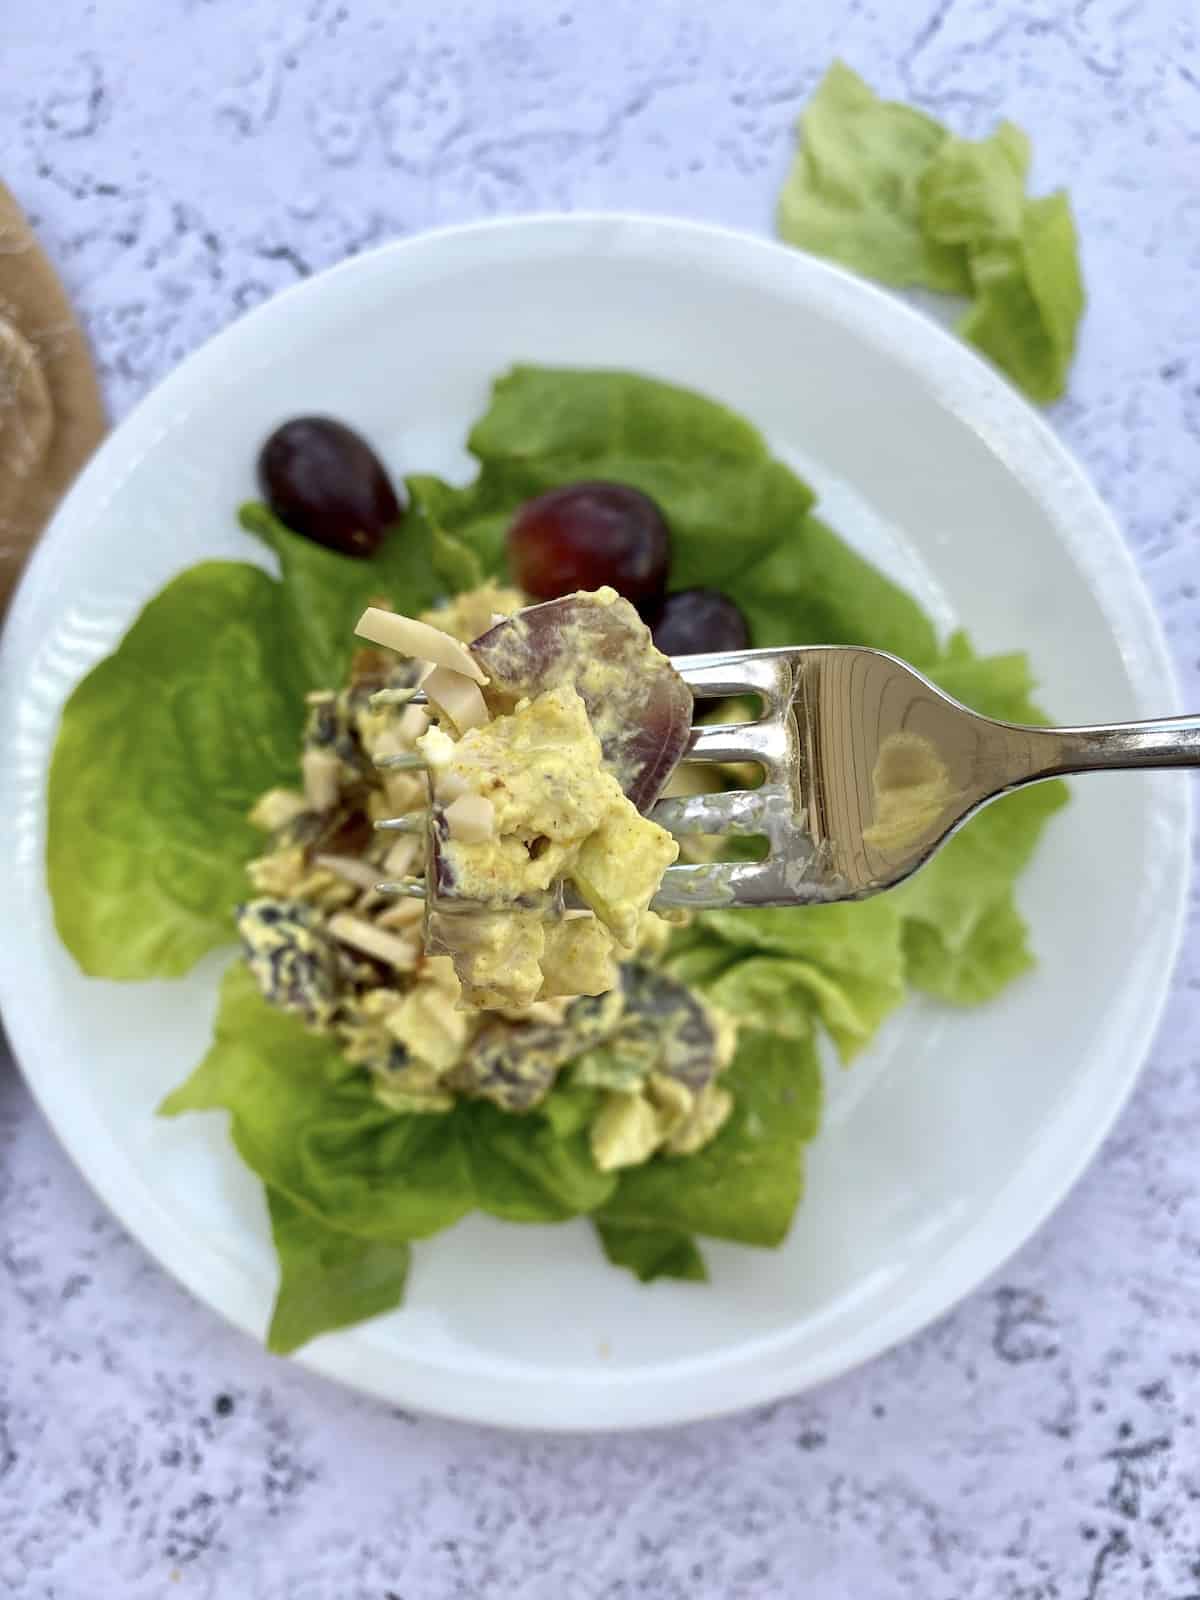
{"label": "creamy yellow curry salad mound, including the bite on the fork", "polygon": [[[238,931],[262,995],[398,1112],[528,1112],[571,1075],[602,1091],[602,1171],[701,1149],[736,1032],[654,970],[678,846],[643,810],[691,694],[650,630],[611,589],[523,610],[485,586],[419,619],[379,603],[358,632],[349,682],[309,696],[302,790],[251,813],[267,848]],[[424,902],[379,888],[397,877]]]}

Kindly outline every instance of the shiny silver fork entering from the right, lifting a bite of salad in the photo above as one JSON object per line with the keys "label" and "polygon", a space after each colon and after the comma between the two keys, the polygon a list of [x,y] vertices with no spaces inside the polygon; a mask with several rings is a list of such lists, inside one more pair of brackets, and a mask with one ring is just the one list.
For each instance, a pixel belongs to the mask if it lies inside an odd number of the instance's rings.
{"label": "shiny silver fork entering from the right, lifting a bite of salad", "polygon": [[[693,728],[683,760],[754,763],[763,782],[659,800],[650,814],[677,837],[757,835],[766,854],[667,867],[659,910],[864,899],[901,883],[1011,789],[1072,773],[1200,765],[1200,717],[1026,728],[968,710],[878,650],[742,650],[678,656],[674,666],[698,699],[762,702],[750,722]],[[424,893],[418,883],[386,886]]]}

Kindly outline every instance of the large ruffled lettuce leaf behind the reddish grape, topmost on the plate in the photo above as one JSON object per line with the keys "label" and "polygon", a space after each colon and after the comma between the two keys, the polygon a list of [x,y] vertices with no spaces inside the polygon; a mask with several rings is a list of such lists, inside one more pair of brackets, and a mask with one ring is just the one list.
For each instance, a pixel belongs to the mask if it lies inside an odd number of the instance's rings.
{"label": "large ruffled lettuce leaf behind the reddish grape, topmost on the plate", "polygon": [[653,494],[674,538],[672,584],[725,589],[757,645],[875,645],[917,664],[938,654],[930,619],[896,584],[808,515],[813,491],[725,406],[630,373],[515,366],[470,432],[464,490],[410,478],[443,528],[502,573],[522,501],[579,478]]}

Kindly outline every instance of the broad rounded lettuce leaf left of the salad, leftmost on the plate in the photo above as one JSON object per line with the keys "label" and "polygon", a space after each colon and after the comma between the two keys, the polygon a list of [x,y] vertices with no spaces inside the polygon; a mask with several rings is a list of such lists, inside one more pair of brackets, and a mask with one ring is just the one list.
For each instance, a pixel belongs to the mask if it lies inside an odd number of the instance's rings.
{"label": "broad rounded lettuce leaf left of the salad, leftmost on the plate", "polygon": [[234,933],[246,811],[294,782],[304,720],[282,594],[256,566],[173,579],[75,688],[50,766],[59,938],[93,978],[176,978]]}

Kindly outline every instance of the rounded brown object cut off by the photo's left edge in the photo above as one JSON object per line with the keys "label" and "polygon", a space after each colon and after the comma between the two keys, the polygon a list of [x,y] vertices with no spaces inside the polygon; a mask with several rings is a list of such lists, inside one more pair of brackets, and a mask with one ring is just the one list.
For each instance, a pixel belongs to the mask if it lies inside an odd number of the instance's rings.
{"label": "rounded brown object cut off by the photo's left edge", "polygon": [[0,614],[104,427],[88,342],[58,274],[0,182]]}

